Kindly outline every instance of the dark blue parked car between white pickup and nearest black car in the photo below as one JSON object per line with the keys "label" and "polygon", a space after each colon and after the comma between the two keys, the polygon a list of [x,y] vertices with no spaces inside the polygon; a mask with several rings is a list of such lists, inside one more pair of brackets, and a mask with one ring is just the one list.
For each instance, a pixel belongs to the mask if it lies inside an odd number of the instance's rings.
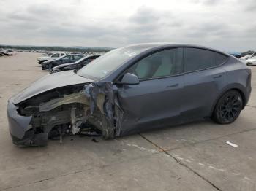
{"label": "dark blue parked car between white pickup and nearest black car", "polygon": [[81,58],[83,58],[83,55],[77,55],[77,54],[64,55],[61,58],[58,58],[56,60],[43,62],[42,70],[50,71],[50,69],[52,69],[55,66],[58,66],[63,63],[74,63],[75,61],[78,61]]}

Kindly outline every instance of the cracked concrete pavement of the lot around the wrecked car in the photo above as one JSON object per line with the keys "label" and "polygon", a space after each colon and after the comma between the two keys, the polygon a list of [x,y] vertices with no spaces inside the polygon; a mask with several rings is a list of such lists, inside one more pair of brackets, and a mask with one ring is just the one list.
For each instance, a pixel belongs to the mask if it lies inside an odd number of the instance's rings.
{"label": "cracked concrete pavement of the lot around the wrecked car", "polygon": [[38,56],[0,58],[0,190],[256,190],[256,67],[249,103],[233,124],[206,120],[108,141],[69,136],[63,144],[19,148],[8,131],[7,99],[48,74]]}

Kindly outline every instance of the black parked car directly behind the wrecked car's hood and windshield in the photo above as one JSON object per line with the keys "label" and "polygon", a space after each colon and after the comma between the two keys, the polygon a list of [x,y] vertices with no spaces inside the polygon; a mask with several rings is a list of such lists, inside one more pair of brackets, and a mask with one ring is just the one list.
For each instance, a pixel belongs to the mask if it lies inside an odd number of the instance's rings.
{"label": "black parked car directly behind the wrecked car's hood and windshield", "polygon": [[55,66],[50,70],[50,73],[81,69],[81,68],[83,68],[83,66],[86,66],[87,63],[94,61],[94,59],[98,58],[100,55],[102,55],[102,54],[87,55],[86,57],[81,58],[80,60],[76,61],[75,63],[64,63],[59,66]]}

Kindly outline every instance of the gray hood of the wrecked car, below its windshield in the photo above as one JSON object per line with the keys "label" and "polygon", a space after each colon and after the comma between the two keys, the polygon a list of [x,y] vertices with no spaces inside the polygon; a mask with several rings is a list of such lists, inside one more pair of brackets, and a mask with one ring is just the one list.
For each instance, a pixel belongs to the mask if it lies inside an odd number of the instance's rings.
{"label": "gray hood of the wrecked car, below its windshield", "polygon": [[24,89],[11,98],[13,104],[19,104],[26,99],[32,98],[35,95],[44,93],[48,90],[53,90],[58,87],[64,87],[69,85],[78,85],[93,82],[91,79],[78,76],[73,71],[62,71],[53,74],[48,74],[45,77],[38,79],[29,87]]}

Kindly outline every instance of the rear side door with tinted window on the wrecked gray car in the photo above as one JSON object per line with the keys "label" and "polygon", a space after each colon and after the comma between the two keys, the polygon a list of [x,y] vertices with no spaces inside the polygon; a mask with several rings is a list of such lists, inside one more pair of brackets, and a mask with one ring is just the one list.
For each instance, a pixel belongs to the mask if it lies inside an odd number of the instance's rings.
{"label": "rear side door with tinted window on the wrecked gray car", "polygon": [[219,90],[227,84],[220,65],[227,56],[211,50],[184,47],[184,102],[181,114],[185,121],[211,114]]}

